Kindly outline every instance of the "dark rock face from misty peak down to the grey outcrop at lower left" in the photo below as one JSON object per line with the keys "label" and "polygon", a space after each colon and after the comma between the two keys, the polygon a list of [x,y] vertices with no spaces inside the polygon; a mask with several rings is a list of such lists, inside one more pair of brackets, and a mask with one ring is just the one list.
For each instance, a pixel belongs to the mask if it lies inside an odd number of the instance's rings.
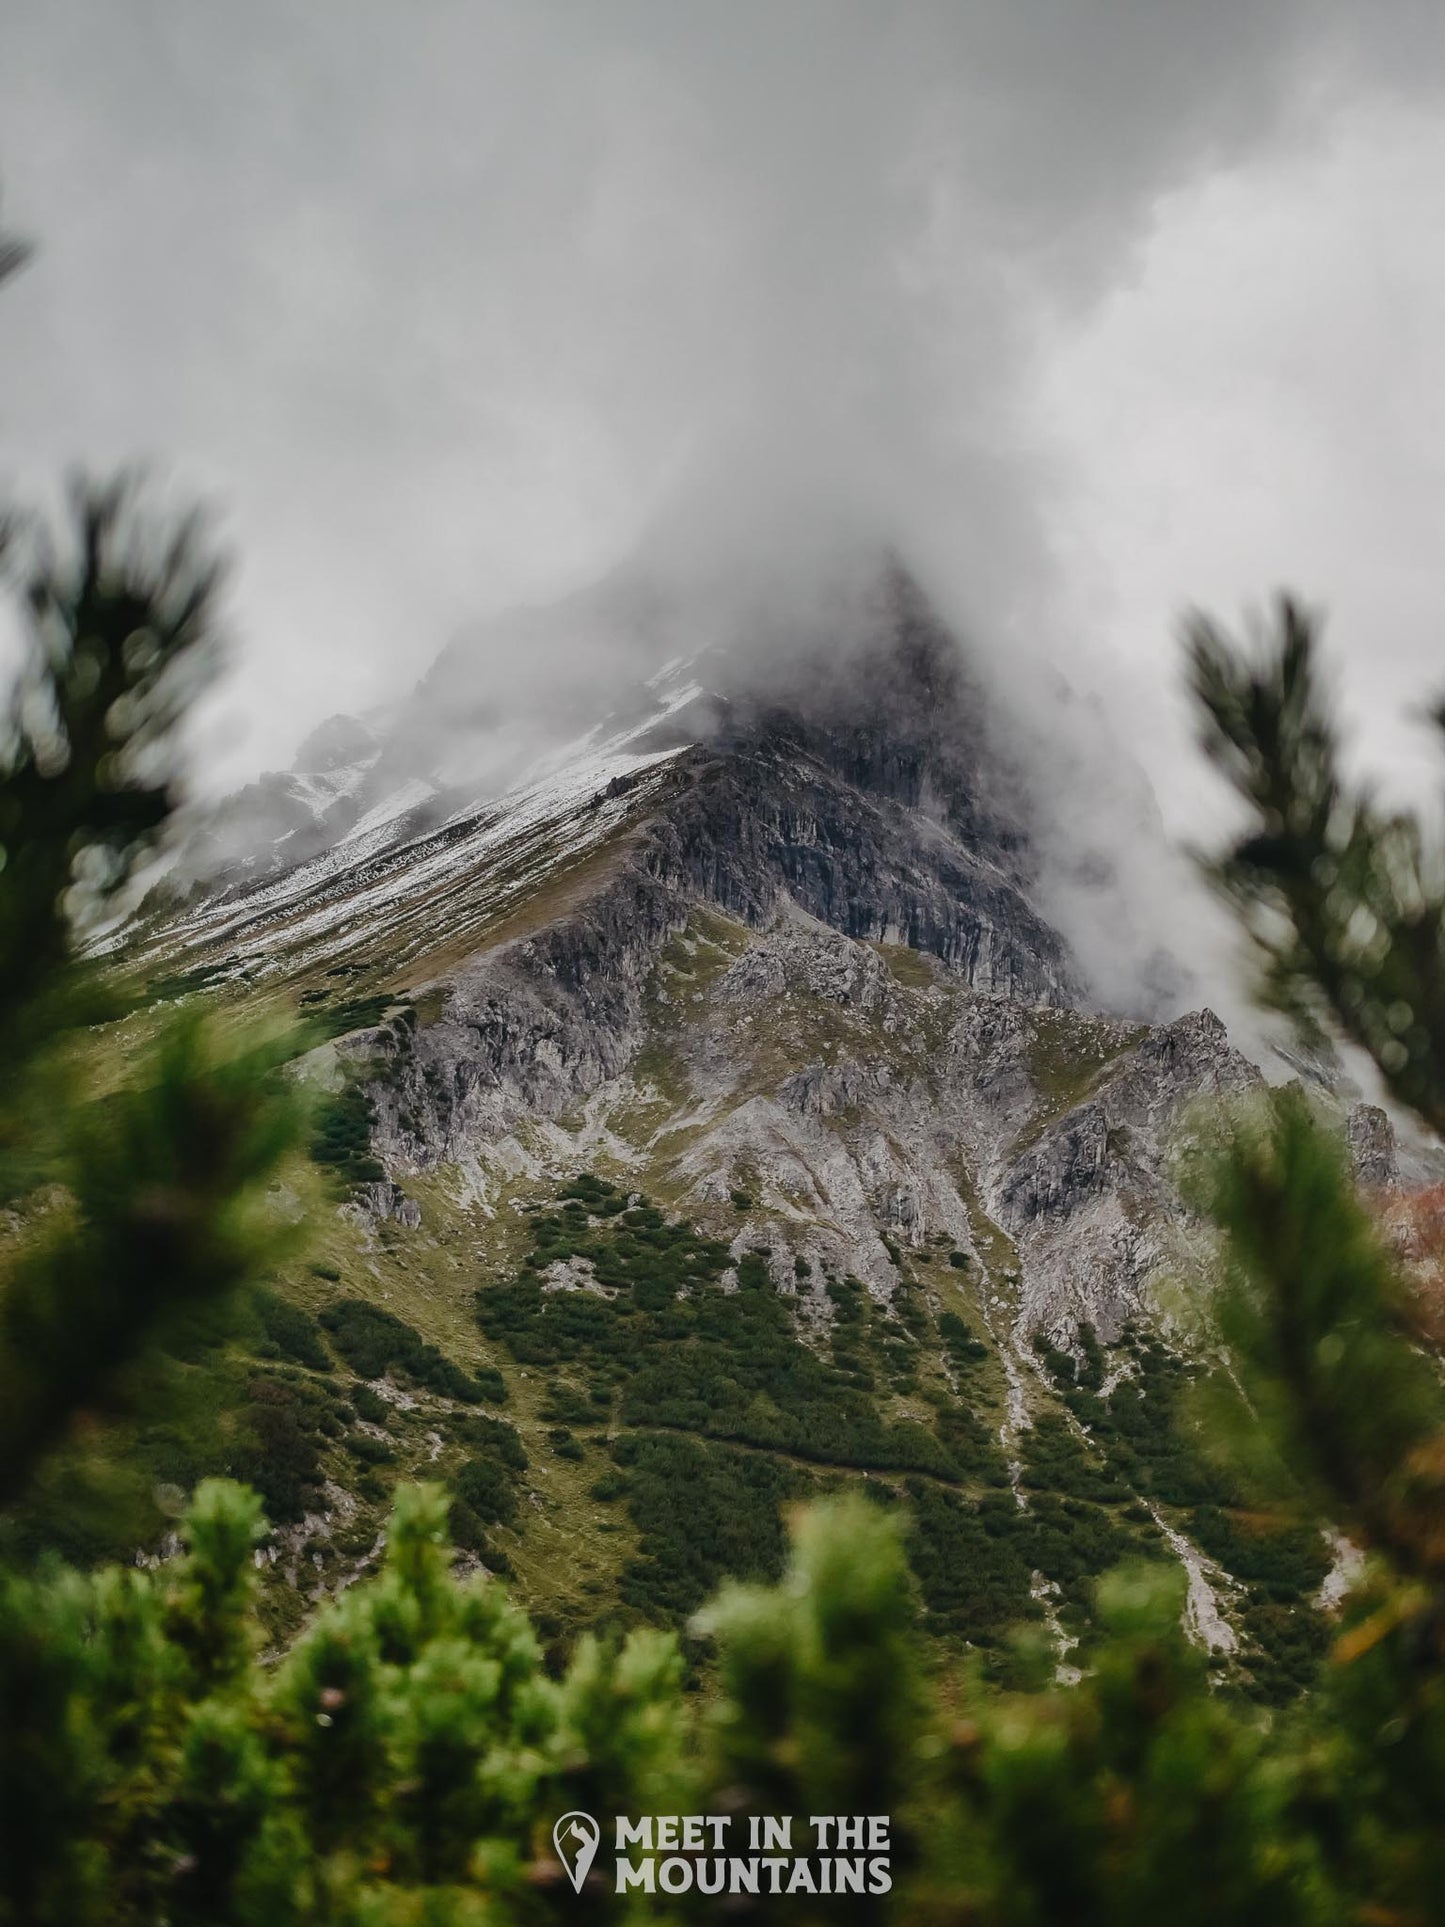
{"label": "dark rock face from misty peak down to the grey outcrop at lower left", "polygon": [[[894,586],[846,676],[722,700],[659,805],[582,908],[460,971],[416,1041],[399,1118],[416,1158],[618,1075],[651,965],[694,904],[761,929],[784,906],[863,942],[927,952],[973,989],[1071,1004],[1065,946],[1033,910],[1029,840],[1004,807],[977,694],[915,592]],[[387,1108],[383,1100],[383,1108]]]}

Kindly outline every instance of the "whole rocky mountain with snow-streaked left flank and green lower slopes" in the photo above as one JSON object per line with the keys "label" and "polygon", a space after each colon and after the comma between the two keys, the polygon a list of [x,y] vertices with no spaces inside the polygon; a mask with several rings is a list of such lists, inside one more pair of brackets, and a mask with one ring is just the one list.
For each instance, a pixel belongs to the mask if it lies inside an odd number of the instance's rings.
{"label": "whole rocky mountain with snow-streaked left flank and green lower slopes", "polygon": [[[1094,1578],[1150,1553],[1220,1676],[1289,1696],[1349,1549],[1195,1445],[1175,1181],[1260,1071],[1208,1010],[1098,1008],[917,588],[888,572],[842,653],[674,653],[480,786],[405,723],[318,732],[127,950],[133,1025],[306,1027],[310,1239],[214,1364],[225,1465],[183,1468],[262,1488],[277,1636],[376,1557],[399,1478],[449,1484],[459,1555],[559,1642],[686,1628],[778,1571],[790,1501],[861,1486],[992,1676],[1031,1626],[1077,1667]],[[1383,1114],[1337,1110],[1393,1185]]]}

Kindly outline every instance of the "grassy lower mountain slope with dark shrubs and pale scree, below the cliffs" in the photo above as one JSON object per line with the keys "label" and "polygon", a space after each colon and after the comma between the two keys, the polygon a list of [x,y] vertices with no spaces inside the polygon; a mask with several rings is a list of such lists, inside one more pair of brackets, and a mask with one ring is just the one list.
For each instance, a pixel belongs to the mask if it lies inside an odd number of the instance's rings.
{"label": "grassy lower mountain slope with dark shrubs and pale scree, below the cliffs", "polygon": [[1083,1663],[1096,1574],[1183,1551],[1220,1676],[1291,1690],[1327,1547],[1231,1505],[1179,1430],[1196,1366],[1156,1322],[1029,1322],[1035,1227],[998,1204],[1010,1160],[1127,1089],[1144,1031],[697,910],[622,1075],[378,1181],[426,1039],[403,989],[291,987],[341,1043],[304,1064],[333,1087],[293,1174],[304,1256],[223,1355],[175,1366],[168,1420],[129,1441],[148,1491],[87,1505],[77,1466],[42,1495],[77,1553],[164,1547],[197,1476],[249,1476],[285,1638],[378,1557],[397,1480],[445,1478],[460,1555],[566,1642],[776,1574],[786,1507],[846,1486],[907,1511],[931,1630],[994,1676],[1029,1626]]}

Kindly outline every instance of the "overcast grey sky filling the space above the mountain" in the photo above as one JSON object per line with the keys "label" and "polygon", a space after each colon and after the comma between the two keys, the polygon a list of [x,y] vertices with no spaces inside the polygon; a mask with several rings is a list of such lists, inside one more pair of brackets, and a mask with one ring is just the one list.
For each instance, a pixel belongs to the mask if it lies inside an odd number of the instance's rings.
{"label": "overcast grey sky filling the space above the mountain", "polygon": [[0,476],[218,501],[212,784],[638,543],[809,522],[1098,692],[1175,829],[1191,601],[1324,603],[1418,771],[1443,81],[1433,0],[10,0]]}

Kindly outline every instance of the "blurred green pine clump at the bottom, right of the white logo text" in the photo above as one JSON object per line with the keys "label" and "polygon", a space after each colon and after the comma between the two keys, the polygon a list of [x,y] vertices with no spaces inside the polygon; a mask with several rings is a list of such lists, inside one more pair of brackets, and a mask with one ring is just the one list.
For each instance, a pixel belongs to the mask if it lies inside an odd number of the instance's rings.
{"label": "blurred green pine clump at the bottom, right of the white logo text", "polygon": [[1117,1574],[1087,1688],[983,1707],[956,1734],[954,1881],[973,1917],[1146,1927],[1341,1919],[1302,1763],[1206,1690],[1179,1630],[1183,1582]]}

